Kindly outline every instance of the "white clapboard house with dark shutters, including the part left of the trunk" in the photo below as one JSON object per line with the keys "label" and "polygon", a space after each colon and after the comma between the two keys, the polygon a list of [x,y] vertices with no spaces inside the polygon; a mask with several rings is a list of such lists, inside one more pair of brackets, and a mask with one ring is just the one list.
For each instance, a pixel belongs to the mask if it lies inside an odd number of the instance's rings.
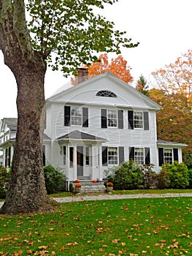
{"label": "white clapboard house with dark shutters, including the part left of the trunk", "polygon": [[[134,159],[152,163],[182,162],[182,143],[157,139],[156,112],[161,107],[110,72],[105,72],[46,101],[44,165],[58,167],[67,181],[104,178],[104,170]],[[1,120],[0,147],[10,165],[15,128]],[[9,159],[9,161],[7,161]]]}

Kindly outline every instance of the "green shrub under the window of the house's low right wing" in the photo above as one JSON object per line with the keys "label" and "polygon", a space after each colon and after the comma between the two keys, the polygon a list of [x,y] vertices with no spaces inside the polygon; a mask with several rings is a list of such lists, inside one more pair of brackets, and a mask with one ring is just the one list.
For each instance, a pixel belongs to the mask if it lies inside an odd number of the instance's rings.
{"label": "green shrub under the window of the house's low right wing", "polygon": [[188,167],[182,162],[174,162],[174,165],[164,164],[160,176],[164,173],[166,187],[181,189],[188,187]]}

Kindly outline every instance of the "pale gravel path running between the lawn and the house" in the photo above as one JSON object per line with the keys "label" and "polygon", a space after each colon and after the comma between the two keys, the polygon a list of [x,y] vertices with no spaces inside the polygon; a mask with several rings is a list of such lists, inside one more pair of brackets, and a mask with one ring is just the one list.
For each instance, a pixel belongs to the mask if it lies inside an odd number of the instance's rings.
{"label": "pale gravel path running between the lawn and the house", "polygon": [[[58,203],[71,203],[71,202],[82,202],[82,201],[95,201],[95,200],[120,200],[120,199],[132,199],[132,198],[159,198],[159,197],[192,197],[192,193],[178,193],[178,194],[140,194],[140,195],[110,195],[110,194],[99,194],[99,195],[77,195],[72,197],[53,197]],[[0,202],[0,207],[3,202]]]}

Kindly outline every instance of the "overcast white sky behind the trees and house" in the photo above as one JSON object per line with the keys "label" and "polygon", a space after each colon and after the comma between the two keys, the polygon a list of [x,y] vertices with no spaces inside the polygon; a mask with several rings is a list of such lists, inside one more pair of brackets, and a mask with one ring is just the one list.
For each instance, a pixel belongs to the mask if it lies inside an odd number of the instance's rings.
{"label": "overcast white sky behind the trees and house", "polygon": [[[131,67],[135,85],[139,75],[150,80],[150,73],[174,62],[192,48],[191,0],[118,0],[101,12],[115,22],[115,29],[127,31],[137,48],[123,49],[123,59]],[[69,80],[69,79],[68,79]],[[50,97],[68,82],[61,72],[47,70],[45,97]],[[0,52],[0,119],[17,117],[15,78],[4,65]]]}

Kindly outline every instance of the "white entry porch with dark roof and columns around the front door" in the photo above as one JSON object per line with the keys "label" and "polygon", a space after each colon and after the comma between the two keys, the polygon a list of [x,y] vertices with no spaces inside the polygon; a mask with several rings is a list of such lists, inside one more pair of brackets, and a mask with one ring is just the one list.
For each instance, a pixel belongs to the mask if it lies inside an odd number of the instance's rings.
{"label": "white entry porch with dark roof and columns around the front door", "polygon": [[96,178],[101,181],[101,144],[107,140],[78,130],[57,140],[63,151],[68,184],[77,178],[88,181]]}

